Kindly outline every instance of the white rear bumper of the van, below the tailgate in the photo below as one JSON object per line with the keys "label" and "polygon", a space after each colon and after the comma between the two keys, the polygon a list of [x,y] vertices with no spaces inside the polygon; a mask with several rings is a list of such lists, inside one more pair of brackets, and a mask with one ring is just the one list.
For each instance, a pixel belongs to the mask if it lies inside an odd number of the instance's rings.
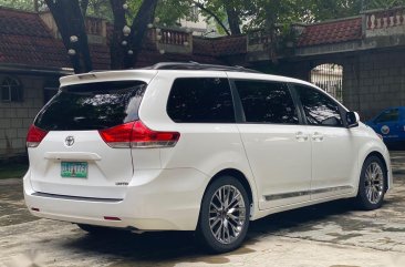
{"label": "white rear bumper of the van, below the tailgate", "polygon": [[207,183],[208,177],[193,168],[137,171],[123,199],[101,199],[39,194],[28,172],[23,188],[25,204],[38,217],[141,230],[194,230]]}

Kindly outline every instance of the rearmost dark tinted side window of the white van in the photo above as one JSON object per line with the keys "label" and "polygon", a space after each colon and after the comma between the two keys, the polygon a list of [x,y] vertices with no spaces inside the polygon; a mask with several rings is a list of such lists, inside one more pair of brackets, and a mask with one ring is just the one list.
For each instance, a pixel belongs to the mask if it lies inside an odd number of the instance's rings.
{"label": "rearmost dark tinted side window of the white van", "polygon": [[176,79],[167,114],[177,123],[232,123],[233,102],[228,79]]}

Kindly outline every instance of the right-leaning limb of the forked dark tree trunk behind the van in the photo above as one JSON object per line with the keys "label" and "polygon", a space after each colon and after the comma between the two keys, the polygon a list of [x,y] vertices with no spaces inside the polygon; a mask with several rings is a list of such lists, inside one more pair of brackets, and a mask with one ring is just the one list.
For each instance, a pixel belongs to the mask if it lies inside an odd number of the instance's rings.
{"label": "right-leaning limb of the forked dark tree trunk behind the van", "polygon": [[144,0],[131,25],[131,34],[128,37],[128,50],[132,54],[124,57],[124,68],[134,68],[138,54],[142,49],[142,41],[147,32],[147,24],[152,23],[155,17],[155,9],[158,0]]}

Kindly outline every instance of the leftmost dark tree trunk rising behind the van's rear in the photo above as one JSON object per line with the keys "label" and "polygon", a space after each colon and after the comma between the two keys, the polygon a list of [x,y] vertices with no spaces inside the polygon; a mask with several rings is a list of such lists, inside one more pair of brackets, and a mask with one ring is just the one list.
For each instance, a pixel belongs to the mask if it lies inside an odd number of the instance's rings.
{"label": "leftmost dark tree trunk rising behind the van's rear", "polygon": [[[62,41],[66,50],[73,49],[75,54],[70,54],[71,63],[75,73],[83,73],[93,70],[90,57],[87,34],[84,18],[79,4],[79,0],[45,0],[53,19],[61,33]],[[77,37],[76,42],[71,41],[71,37]]]}

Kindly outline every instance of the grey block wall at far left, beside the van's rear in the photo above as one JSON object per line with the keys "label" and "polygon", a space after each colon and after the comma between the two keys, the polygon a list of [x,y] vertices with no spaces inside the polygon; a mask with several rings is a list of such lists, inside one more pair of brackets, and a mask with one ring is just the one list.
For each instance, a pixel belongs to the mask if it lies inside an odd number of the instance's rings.
{"label": "grey block wall at far left, beside the van's rear", "polygon": [[[0,83],[6,73],[0,73]],[[45,79],[33,75],[14,75],[22,84],[22,102],[0,101],[0,160],[25,153],[29,126],[43,106]]]}

